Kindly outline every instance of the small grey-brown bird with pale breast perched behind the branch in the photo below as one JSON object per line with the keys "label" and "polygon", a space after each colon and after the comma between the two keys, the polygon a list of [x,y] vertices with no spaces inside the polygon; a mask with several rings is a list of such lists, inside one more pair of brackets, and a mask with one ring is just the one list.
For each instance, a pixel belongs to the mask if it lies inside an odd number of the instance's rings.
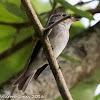
{"label": "small grey-brown bird with pale breast perched behind the branch", "polygon": [[[51,15],[45,28],[66,16],[69,16],[69,14],[64,12],[58,12]],[[71,16],[50,30],[48,37],[55,58],[57,58],[66,47],[69,40],[69,29],[74,21],[78,21],[78,19]],[[46,59],[45,50],[42,48],[40,40],[38,40],[34,50],[32,51],[27,67],[25,67],[23,73],[13,83],[13,86],[18,86],[18,89],[24,92],[32,78],[34,77],[34,79],[37,79],[48,65],[49,64]]]}

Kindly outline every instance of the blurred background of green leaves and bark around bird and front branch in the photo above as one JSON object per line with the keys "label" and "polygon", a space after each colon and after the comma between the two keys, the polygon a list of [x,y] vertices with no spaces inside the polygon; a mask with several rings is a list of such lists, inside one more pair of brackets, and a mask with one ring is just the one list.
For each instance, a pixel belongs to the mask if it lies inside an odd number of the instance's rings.
{"label": "blurred background of green leaves and bark around bird and front branch", "polygon": [[[74,100],[100,100],[100,0],[31,3],[44,27],[50,15],[57,12],[80,19],[72,24],[69,43],[57,60]],[[49,68],[38,81],[30,83],[25,93],[12,88],[30,57],[35,36],[21,0],[0,0],[0,95],[40,94],[43,100],[62,100]]]}

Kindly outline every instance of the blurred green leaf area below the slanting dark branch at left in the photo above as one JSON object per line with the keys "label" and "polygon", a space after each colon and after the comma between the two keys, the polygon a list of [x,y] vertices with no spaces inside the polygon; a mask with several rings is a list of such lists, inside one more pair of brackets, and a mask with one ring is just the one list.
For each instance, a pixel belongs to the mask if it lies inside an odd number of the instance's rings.
{"label": "blurred green leaf area below the slanting dark branch at left", "polygon": [[28,44],[18,52],[0,61],[0,84],[9,80],[25,67],[32,48],[33,43]]}

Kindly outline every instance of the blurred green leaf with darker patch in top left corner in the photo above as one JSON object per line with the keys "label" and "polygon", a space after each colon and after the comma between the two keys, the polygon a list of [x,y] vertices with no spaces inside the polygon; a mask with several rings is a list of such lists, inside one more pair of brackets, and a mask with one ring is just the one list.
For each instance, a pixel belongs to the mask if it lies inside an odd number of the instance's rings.
{"label": "blurred green leaf with darker patch in top left corner", "polygon": [[[14,0],[13,0],[14,1]],[[19,3],[19,2],[18,2]],[[10,23],[27,22],[28,18],[19,3],[10,1],[0,1],[0,21]]]}

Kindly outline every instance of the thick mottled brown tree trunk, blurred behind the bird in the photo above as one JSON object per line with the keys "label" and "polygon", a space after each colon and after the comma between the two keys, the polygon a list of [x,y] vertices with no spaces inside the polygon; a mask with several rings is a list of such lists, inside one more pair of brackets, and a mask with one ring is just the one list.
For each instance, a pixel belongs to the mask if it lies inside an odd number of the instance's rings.
{"label": "thick mottled brown tree trunk, blurred behind the bird", "polygon": [[[83,79],[91,76],[96,69],[100,68],[100,22],[71,39],[63,53],[82,62],[79,64],[61,57],[58,58],[59,65],[61,65],[61,70],[70,89]],[[13,81],[14,79],[10,80],[9,83],[5,83],[2,86],[1,92],[11,91]],[[40,75],[37,81],[31,81],[26,93],[15,89],[13,95],[26,94],[30,96],[35,94],[43,95],[44,98],[40,100],[54,100],[60,95],[49,67]],[[20,99],[16,98],[15,100]],[[28,100],[36,99],[29,98]]]}

